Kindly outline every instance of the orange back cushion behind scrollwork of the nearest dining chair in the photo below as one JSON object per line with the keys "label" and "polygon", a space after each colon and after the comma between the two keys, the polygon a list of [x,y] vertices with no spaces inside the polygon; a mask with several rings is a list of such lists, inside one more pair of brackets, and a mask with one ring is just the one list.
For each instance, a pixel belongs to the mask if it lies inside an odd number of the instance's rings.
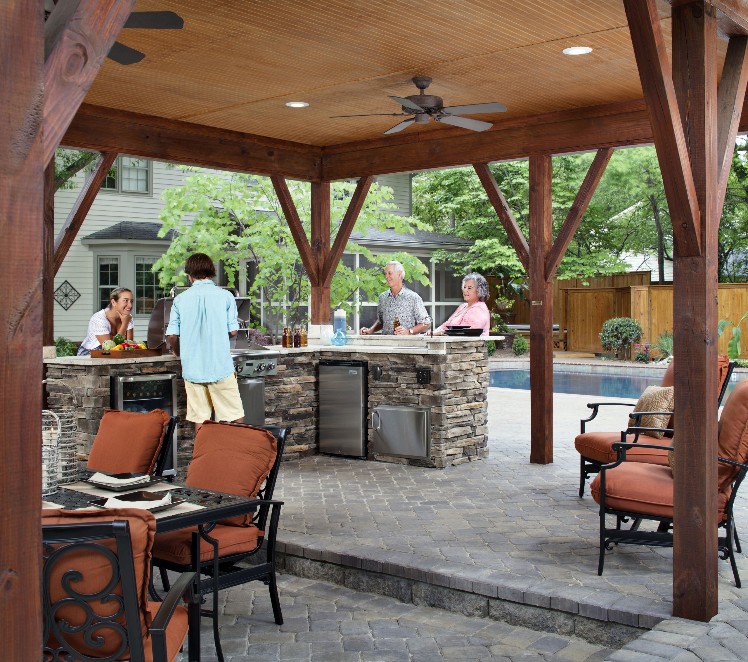
{"label": "orange back cushion behind scrollwork of the nearest dining chair", "polygon": [[[155,612],[150,611],[148,604],[148,580],[150,579],[151,547],[153,536],[156,533],[156,518],[152,512],[137,508],[108,509],[102,511],[68,511],[63,509],[43,509],[42,524],[96,524],[99,522],[111,522],[114,520],[126,520],[130,527],[130,540],[132,542],[132,556],[135,566],[135,585],[138,590],[138,604],[140,606],[141,636],[145,636],[147,628],[153,621]],[[96,544],[108,548],[117,553],[114,539],[103,539]],[[55,545],[55,548],[62,545]],[[73,590],[93,594],[101,591],[107,586],[111,579],[111,563],[107,558],[93,550],[76,550],[61,555],[54,565],[49,568],[49,601],[55,604],[70,595],[65,591],[62,584],[63,575],[67,571],[80,571],[81,580],[73,580],[70,586]],[[122,595],[122,586],[118,582],[110,591],[115,595]],[[100,599],[88,601],[94,613],[102,616],[111,616],[117,613],[119,605],[117,601],[102,601]],[[57,620],[64,620],[71,625],[82,625],[85,622],[85,613],[80,607],[64,605],[60,607],[55,616]],[[122,625],[125,624],[124,614],[115,619]],[[96,636],[104,639],[104,644],[98,648],[87,646],[83,634],[67,634],[66,640],[77,651],[92,657],[105,658],[114,655],[120,648],[121,639],[111,628],[100,628],[94,632]],[[54,644],[54,637],[50,634],[50,641]]]}

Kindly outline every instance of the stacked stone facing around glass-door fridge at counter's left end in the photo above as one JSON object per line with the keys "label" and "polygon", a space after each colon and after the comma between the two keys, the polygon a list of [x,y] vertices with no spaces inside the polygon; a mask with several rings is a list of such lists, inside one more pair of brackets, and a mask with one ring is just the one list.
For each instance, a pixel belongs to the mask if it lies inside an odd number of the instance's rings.
{"label": "stacked stone facing around glass-door fridge at counter's left end", "polygon": [[[179,475],[184,476],[192,459],[194,425],[187,423],[187,396],[180,361],[154,361],[153,363],[101,364],[88,366],[60,363],[45,363],[47,379],[61,379],[69,384],[78,402],[78,452],[87,457],[99,432],[99,423],[104,410],[111,406],[111,376],[140,375],[147,373],[177,373],[177,412],[180,424],[177,428],[177,465]],[[47,404],[51,408],[72,405],[70,390],[61,384],[46,384]]]}

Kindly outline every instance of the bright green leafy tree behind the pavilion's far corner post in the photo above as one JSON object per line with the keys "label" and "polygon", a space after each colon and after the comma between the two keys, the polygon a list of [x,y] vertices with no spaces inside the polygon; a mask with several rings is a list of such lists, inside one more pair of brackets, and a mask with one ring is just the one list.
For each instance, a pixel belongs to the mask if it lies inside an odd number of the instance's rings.
{"label": "bright green leafy tree behind the pavilion's far corner post", "polygon": [[[227,174],[182,168],[191,174],[185,185],[167,189],[162,194],[163,227],[160,235],[174,230],[174,238],[165,255],[153,267],[161,272],[162,286],[186,283],[180,272],[189,254],[200,251],[221,261],[229,286],[237,279],[247,278],[245,263],[254,263],[254,274],[248,281],[248,296],[259,298],[263,292],[266,328],[275,341],[278,328],[304,321],[304,307],[310,295],[310,284],[298,250],[293,242],[283,209],[275,190],[266,177]],[[304,228],[310,226],[310,186],[289,182]],[[331,186],[331,241],[337,234],[355,184],[336,182]],[[396,206],[389,202],[391,189],[374,184],[358,216],[355,230],[393,229],[414,233],[415,228],[429,230],[428,224],[413,218],[393,215]],[[358,251],[373,265],[349,269],[342,261],[331,283],[331,304],[350,312],[358,302],[359,292],[373,298],[384,290],[384,264],[399,260],[411,280],[429,285],[428,269],[417,257],[408,253],[373,255],[368,248],[348,242],[349,251]],[[257,311],[253,311],[257,315]]]}

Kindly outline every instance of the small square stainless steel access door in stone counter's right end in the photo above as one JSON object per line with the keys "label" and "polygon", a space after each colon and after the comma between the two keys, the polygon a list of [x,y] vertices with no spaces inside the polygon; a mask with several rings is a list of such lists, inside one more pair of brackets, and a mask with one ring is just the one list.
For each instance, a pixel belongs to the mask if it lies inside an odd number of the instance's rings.
{"label": "small square stainless steel access door in stone counter's right end", "polygon": [[379,405],[372,412],[374,453],[401,458],[431,457],[431,408]]}

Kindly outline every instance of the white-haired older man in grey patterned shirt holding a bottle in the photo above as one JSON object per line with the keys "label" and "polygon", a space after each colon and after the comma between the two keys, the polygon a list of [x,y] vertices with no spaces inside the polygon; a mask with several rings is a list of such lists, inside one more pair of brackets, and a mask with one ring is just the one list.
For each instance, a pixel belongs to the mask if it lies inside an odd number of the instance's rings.
{"label": "white-haired older man in grey patterned shirt holding a bottle", "polygon": [[[429,314],[420,298],[412,289],[402,284],[405,269],[399,262],[388,262],[384,267],[384,278],[390,289],[379,295],[377,320],[369,328],[362,328],[361,334],[367,336],[381,329],[382,334],[409,336],[426,331],[429,328]],[[395,318],[400,322],[393,329]]]}

